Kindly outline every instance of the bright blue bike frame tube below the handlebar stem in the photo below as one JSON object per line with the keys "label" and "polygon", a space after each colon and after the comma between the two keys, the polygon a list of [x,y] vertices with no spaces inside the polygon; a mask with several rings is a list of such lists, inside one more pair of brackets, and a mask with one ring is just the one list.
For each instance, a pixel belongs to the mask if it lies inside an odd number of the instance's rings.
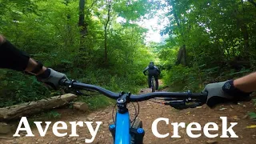
{"label": "bright blue bike frame tube below the handlebar stem", "polygon": [[116,131],[114,144],[130,144],[130,117],[129,113],[116,115]]}

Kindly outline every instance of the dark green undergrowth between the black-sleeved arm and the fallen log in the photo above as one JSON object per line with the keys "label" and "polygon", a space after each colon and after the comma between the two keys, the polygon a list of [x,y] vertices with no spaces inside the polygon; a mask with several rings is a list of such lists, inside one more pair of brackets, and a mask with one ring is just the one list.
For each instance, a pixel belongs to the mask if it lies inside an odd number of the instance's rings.
{"label": "dark green undergrowth between the black-sleeved arm and the fallen log", "polygon": [[1,70],[0,75],[0,107],[51,96],[50,91],[30,75],[11,70]]}

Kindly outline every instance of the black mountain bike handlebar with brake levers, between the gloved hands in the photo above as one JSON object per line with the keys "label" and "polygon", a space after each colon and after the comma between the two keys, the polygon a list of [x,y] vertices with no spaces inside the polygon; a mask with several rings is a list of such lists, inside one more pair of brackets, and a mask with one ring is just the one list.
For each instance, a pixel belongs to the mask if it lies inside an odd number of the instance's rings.
{"label": "black mountain bike handlebar with brake levers, between the gloved hands", "polygon": [[[109,98],[118,99],[122,95],[120,93],[114,93],[110,90],[106,90],[101,86],[94,86],[90,84],[85,84],[82,82],[77,81],[70,81],[67,79],[63,79],[60,82],[61,86],[68,86],[69,88],[78,89],[78,90],[96,90],[101,94],[106,95]],[[187,92],[156,92],[156,93],[149,93],[149,94],[129,94],[129,102],[142,102],[149,100],[150,98],[173,98],[171,100],[184,100],[188,98],[189,100],[195,99],[197,102],[202,104],[206,103],[207,94],[206,93],[191,93],[190,91]]]}

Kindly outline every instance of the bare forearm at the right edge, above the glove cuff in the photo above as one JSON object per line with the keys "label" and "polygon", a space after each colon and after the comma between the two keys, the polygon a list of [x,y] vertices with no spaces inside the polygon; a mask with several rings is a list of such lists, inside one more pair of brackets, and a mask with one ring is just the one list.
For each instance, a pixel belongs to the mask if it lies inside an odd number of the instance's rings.
{"label": "bare forearm at the right edge, above the glove cuff", "polygon": [[244,92],[256,90],[256,72],[234,80],[234,87]]}

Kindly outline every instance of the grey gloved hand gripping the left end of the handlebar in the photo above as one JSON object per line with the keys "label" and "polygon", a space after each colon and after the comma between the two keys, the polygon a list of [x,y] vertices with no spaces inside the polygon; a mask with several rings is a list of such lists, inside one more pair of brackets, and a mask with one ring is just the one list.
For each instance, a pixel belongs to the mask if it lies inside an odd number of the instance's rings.
{"label": "grey gloved hand gripping the left end of the handlebar", "polygon": [[53,69],[47,68],[43,74],[37,76],[39,82],[44,82],[46,85],[52,87],[54,90],[58,90],[59,82],[62,79],[68,79],[66,74],[62,74]]}

